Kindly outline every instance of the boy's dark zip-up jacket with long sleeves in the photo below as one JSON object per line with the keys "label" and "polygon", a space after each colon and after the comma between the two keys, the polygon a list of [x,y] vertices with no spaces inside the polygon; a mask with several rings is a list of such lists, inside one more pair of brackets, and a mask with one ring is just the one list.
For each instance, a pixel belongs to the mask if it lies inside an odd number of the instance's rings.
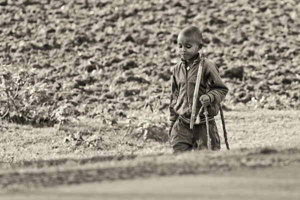
{"label": "boy's dark zip-up jacket with long sleeves", "polygon": [[[196,114],[202,106],[200,96],[207,94],[210,99],[210,104],[207,106],[209,120],[214,120],[219,112],[218,103],[220,103],[226,96],[228,88],[223,83],[219,69],[214,63],[209,61],[206,57],[198,54],[193,61],[189,70],[186,69],[186,61],[181,59],[173,68],[173,75],[171,78],[171,94],[170,94],[170,126],[173,126],[178,117],[183,121],[189,123],[192,99],[197,80],[197,72],[199,68],[200,59],[203,59],[203,67],[201,80],[199,85]],[[200,122],[205,122],[205,116],[200,113]]]}

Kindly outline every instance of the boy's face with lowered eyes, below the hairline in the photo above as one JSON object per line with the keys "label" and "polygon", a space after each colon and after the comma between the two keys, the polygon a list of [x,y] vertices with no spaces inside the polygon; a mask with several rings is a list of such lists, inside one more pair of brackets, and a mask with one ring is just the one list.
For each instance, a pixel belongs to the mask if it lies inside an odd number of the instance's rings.
{"label": "boy's face with lowered eyes, below the hairline", "polygon": [[183,60],[194,58],[201,49],[201,43],[194,40],[192,36],[179,33],[177,38],[178,50]]}

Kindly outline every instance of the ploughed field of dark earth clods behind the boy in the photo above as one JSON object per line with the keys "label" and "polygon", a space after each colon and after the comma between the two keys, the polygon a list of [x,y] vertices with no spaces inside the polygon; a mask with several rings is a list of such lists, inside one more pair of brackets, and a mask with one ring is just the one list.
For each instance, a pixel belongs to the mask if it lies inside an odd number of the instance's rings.
{"label": "ploughed field of dark earth clods behind the boy", "polygon": [[75,114],[166,112],[177,34],[195,25],[224,105],[299,109],[299,13],[299,0],[0,0],[0,63],[35,69],[46,105]]}

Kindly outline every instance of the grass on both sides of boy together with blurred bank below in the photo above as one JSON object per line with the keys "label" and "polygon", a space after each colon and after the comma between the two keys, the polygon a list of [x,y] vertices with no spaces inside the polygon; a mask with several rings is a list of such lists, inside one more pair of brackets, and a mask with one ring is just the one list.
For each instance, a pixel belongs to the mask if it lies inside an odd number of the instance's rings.
{"label": "grass on both sides of boy together with blurred bank below", "polygon": [[[79,122],[64,124],[59,129],[2,123],[0,186],[9,190],[27,190],[107,179],[300,163],[300,111],[231,110],[225,111],[224,115],[230,151],[226,150],[222,138],[219,152],[178,155],[171,154],[168,142],[143,140],[134,134],[124,136],[127,123],[121,121],[100,125],[101,120],[81,118]],[[166,120],[167,115],[159,117],[159,120]],[[140,121],[136,119],[134,123]],[[216,123],[222,135],[219,116]],[[78,130],[84,141],[90,135],[99,135],[102,143],[98,145],[102,144],[104,148],[63,142],[66,135],[76,134]]]}

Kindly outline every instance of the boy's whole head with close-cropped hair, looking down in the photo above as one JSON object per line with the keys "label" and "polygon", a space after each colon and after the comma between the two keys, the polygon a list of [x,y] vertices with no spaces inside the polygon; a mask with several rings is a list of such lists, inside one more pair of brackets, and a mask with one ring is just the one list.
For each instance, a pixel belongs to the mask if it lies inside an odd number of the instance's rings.
{"label": "boy's whole head with close-cropped hair, looking down", "polygon": [[190,60],[202,48],[202,33],[196,26],[187,26],[179,32],[177,44],[182,59]]}

